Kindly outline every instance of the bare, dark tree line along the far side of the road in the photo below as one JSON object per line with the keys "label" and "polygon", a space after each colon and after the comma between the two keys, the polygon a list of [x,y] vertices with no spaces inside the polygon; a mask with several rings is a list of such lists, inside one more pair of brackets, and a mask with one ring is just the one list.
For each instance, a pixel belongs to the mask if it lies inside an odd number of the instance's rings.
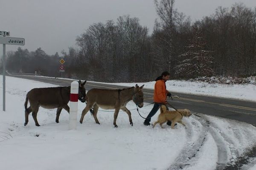
{"label": "bare, dark tree line along the far side of the road", "polygon": [[[192,22],[175,8],[175,0],[154,4],[158,17],[151,35],[129,15],[90,25],[76,38],[77,48],[61,52],[65,77],[144,82],[162,71],[176,79],[256,75],[256,8],[236,3]],[[8,53],[7,70],[59,76],[59,59],[58,53],[50,56],[41,48],[18,48]]]}

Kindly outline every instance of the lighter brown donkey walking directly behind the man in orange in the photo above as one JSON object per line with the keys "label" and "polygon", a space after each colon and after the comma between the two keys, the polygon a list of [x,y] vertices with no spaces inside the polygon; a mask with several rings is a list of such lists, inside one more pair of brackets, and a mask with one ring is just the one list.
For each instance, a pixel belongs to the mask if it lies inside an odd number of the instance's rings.
{"label": "lighter brown donkey walking directly behind the man in orange", "polygon": [[95,122],[99,124],[97,119],[97,112],[99,107],[103,109],[115,109],[114,112],[114,122],[113,125],[116,125],[116,118],[118,116],[119,110],[125,111],[129,116],[130,125],[133,125],[131,119],[131,112],[126,108],[126,104],[133,100],[134,103],[142,108],[143,107],[143,91],[141,86],[136,85],[131,88],[124,88],[122,90],[108,90],[108,89],[97,89],[93,88],[86,94],[87,105],[82,111],[80,123],[83,122],[85,114],[93,107],[93,118]]}

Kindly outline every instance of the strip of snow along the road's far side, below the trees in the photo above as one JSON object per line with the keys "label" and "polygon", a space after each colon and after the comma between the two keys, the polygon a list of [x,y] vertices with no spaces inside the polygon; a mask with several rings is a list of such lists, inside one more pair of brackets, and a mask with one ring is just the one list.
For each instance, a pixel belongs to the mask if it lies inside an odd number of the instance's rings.
{"label": "strip of snow along the road's far side, below the trees", "polygon": [[[122,86],[134,86],[134,83],[106,83]],[[144,85],[144,88],[154,89],[154,82],[142,82],[138,85]],[[227,85],[227,84],[209,84],[207,82],[189,82],[184,80],[168,80],[166,88],[171,92],[196,94],[204,96],[216,96],[232,99],[242,99],[256,101],[256,85]]]}

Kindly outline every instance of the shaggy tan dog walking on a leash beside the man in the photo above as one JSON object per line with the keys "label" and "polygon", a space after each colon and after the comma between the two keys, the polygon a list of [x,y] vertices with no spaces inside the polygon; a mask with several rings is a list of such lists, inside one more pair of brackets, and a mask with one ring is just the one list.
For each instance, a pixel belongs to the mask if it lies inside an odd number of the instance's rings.
{"label": "shaggy tan dog walking on a leash beside the man", "polygon": [[158,116],[158,119],[156,122],[154,122],[153,128],[157,123],[160,124],[160,126],[163,128],[163,123],[169,121],[172,121],[172,129],[174,129],[175,123],[180,123],[183,126],[186,126],[181,119],[183,116],[189,117],[191,116],[191,112],[188,109],[178,109],[177,111],[167,111],[166,105],[162,105],[160,108],[160,114]]}

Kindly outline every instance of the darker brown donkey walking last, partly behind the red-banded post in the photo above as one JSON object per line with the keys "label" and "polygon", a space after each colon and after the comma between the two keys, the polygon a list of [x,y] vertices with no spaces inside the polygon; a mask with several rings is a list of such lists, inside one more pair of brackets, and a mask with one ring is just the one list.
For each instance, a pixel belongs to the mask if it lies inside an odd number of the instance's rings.
{"label": "darker brown donkey walking last, partly behind the red-banded post", "polygon": [[[81,80],[79,80],[79,100],[81,102],[85,102],[86,91],[84,88],[84,84]],[[29,108],[27,108],[28,101],[30,103]],[[61,110],[64,108],[69,113],[69,106],[67,103],[70,101],[70,86],[68,87],[54,87],[54,88],[33,88],[26,95],[25,102],[25,123],[26,126],[29,122],[29,113],[32,112],[33,119],[35,121],[36,126],[40,126],[37,121],[37,113],[39,107],[53,109],[57,108],[56,120],[55,122],[59,122],[59,116],[61,114]]]}

